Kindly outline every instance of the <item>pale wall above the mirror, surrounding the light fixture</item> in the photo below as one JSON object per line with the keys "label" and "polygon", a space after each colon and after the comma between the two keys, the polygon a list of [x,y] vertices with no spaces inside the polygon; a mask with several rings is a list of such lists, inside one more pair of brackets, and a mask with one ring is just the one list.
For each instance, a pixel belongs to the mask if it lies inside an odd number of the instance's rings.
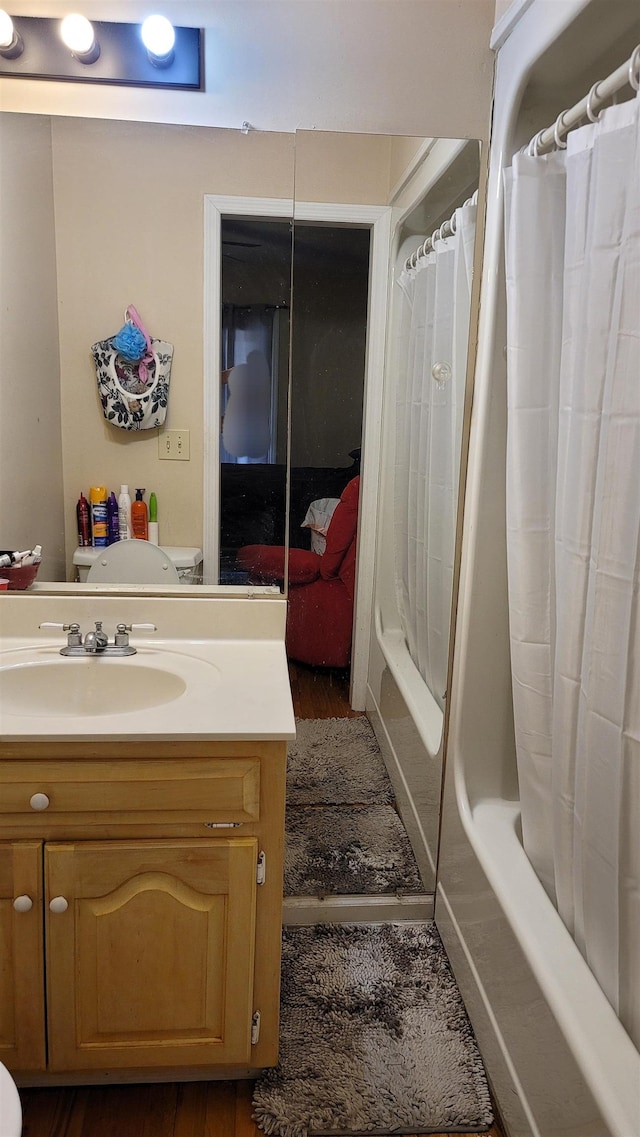
{"label": "pale wall above the mirror, surrounding the light fixture", "polygon": [[494,0],[3,0],[23,16],[205,28],[206,91],[0,80],[0,109],[257,130],[487,138]]}

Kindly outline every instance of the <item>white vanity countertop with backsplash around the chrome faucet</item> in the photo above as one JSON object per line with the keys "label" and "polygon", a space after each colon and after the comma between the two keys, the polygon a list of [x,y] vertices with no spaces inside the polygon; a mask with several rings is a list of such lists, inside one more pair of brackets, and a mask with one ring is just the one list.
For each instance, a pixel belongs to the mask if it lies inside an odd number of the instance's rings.
{"label": "white vanity countertop with backsplash around the chrome faucet", "polygon": [[[271,608],[273,601],[268,603]],[[280,607],[280,603],[276,603]],[[215,605],[216,601],[211,604]],[[76,606],[77,601],[74,607]],[[107,607],[105,598],[100,606],[102,609]],[[135,646],[136,654],[124,658],[89,655],[78,659],[60,656],[59,648],[66,642],[66,633],[58,629],[31,631],[28,636],[5,634],[0,640],[0,735],[6,741],[97,741],[102,738],[105,741],[293,739],[296,724],[284,649],[284,622],[271,620],[269,609],[264,619],[257,619],[261,607],[256,601],[239,605],[234,615],[244,616],[247,609],[252,629],[248,626],[246,619],[241,619],[238,637],[227,634],[219,638],[215,636],[215,624],[218,622],[215,617],[219,616],[223,625],[228,623],[223,619],[223,607],[197,608],[200,629],[203,628],[202,616],[207,614],[205,625],[210,630],[210,638],[202,637],[201,632],[200,638],[197,637],[193,625],[189,628],[189,636],[185,634],[184,626],[171,626],[173,621],[166,619],[169,615],[167,608],[156,613],[146,609],[136,613],[139,620],[152,620],[158,626],[164,623],[166,628],[171,628],[172,634],[161,636],[159,631],[150,634],[133,632],[131,642]],[[8,608],[5,611],[8,614]],[[134,619],[128,612],[120,613],[122,601],[117,604],[117,619]],[[33,609],[33,614],[41,617],[40,611],[36,613]],[[106,612],[103,614],[107,617],[109,615]],[[184,615],[185,609],[182,607],[181,616]],[[66,612],[63,619],[69,620]],[[83,620],[82,626],[86,631],[90,624]],[[10,632],[17,631],[15,625],[11,628],[5,624],[5,628]],[[105,630],[109,633],[109,640],[113,640],[113,626],[108,619]],[[227,628],[224,630],[227,631]],[[53,713],[49,713],[47,705],[51,707],[51,698],[40,704],[38,687],[43,684],[43,690],[48,692],[51,669],[56,671],[53,678],[57,689],[61,691],[63,703],[67,697],[67,687],[60,677],[68,673],[69,684],[75,684],[74,690],[84,690],[86,687],[90,694],[90,713],[84,707],[81,713],[75,713],[55,703]],[[114,674],[115,669],[118,669],[117,674]],[[18,679],[18,697],[13,694],[17,670],[22,673]],[[10,677],[8,671],[14,675]],[[172,692],[173,697],[168,702],[160,700],[155,706],[138,709],[120,709],[117,700],[107,696],[102,712],[102,684],[108,691],[111,675],[117,680],[116,686],[123,691],[123,702],[126,704],[130,684],[133,690],[138,690],[136,682],[140,683],[140,690],[153,690],[156,686],[160,688],[160,683],[155,682],[153,671],[168,672],[169,678],[178,677],[178,688],[183,683],[184,689],[176,696]],[[78,699],[78,705],[82,705],[82,692]],[[73,707],[74,698],[69,702]],[[99,713],[94,712],[97,705]]]}

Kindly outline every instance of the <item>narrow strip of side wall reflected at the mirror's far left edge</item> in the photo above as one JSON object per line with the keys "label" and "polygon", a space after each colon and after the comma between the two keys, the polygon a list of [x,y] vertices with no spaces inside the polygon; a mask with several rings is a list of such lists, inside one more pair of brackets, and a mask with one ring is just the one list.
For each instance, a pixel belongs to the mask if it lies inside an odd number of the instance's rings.
{"label": "narrow strip of side wall reflected at the mirror's far left edge", "polygon": [[49,119],[0,115],[0,548],[40,543],[64,580]]}

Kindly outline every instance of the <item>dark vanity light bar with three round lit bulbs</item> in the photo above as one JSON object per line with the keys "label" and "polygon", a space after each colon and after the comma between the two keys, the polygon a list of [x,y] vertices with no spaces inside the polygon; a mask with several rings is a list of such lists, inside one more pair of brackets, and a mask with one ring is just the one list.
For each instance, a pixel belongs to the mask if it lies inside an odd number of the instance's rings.
{"label": "dark vanity light bar with three round lit bulbs", "polygon": [[182,91],[205,89],[199,27],[14,16],[0,9],[0,78],[43,78]]}

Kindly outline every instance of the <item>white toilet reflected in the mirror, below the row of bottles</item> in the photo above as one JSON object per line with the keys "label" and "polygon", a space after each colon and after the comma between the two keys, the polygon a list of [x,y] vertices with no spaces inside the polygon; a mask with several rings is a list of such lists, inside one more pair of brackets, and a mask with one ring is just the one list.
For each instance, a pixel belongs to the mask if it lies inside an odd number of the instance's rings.
{"label": "white toilet reflected in the mirror, below the row of bottles", "polygon": [[[115,555],[111,550],[118,549]],[[149,551],[148,551],[149,550]],[[155,550],[155,551],[151,551]],[[177,573],[177,581],[173,572],[160,570],[158,575],[158,551],[164,554],[165,562],[169,562]],[[99,559],[108,563],[117,557],[117,565],[113,570],[109,564],[102,566],[100,572],[95,565]],[[93,548],[86,546],[77,548],[73,555],[73,564],[76,571],[76,579],[81,584],[91,582],[101,583],[125,583],[125,584],[152,584],[152,583],[178,583],[198,584],[202,573],[202,549],[167,545],[157,546],[149,541],[116,541],[107,548]],[[92,571],[94,570],[94,571]],[[92,572],[91,578],[89,576]],[[111,574],[113,573],[113,574]],[[171,580],[168,579],[171,575]]]}

